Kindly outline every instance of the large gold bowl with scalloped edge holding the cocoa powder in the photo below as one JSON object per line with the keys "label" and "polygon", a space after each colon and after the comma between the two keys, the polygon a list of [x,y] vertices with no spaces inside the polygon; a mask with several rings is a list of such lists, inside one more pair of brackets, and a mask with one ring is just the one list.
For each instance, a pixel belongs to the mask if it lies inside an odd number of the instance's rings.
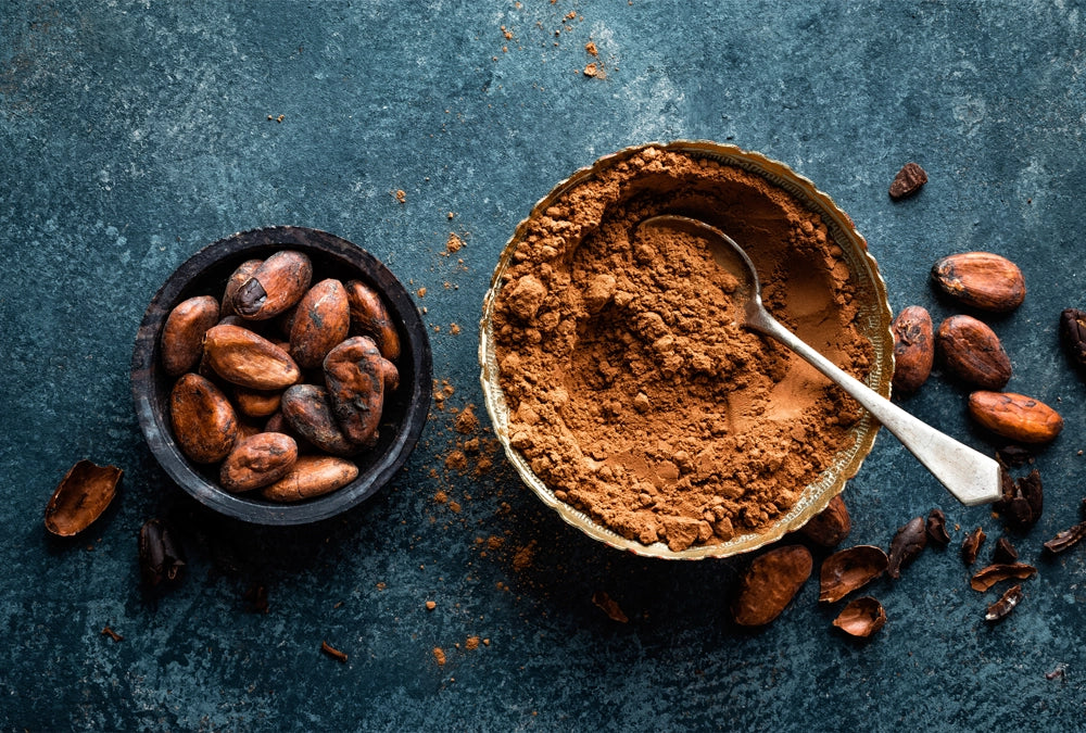
{"label": "large gold bowl with scalloped edge holding the cocoa powder", "polygon": [[[811,481],[803,486],[792,488],[793,493],[798,495],[798,498],[768,526],[760,527],[757,531],[741,529],[730,539],[714,538],[702,544],[677,549],[669,548],[664,541],[643,543],[636,539],[623,536],[572,504],[563,501],[556,495],[555,488],[547,485],[546,481],[532,470],[530,459],[526,454],[514,447],[510,442],[510,424],[514,416],[502,386],[502,367],[497,357],[495,333],[495,309],[503,287],[508,285],[506,281],[508,279],[507,271],[514,266],[518,251],[522,255],[522,248],[532,247],[531,242],[526,240],[530,237],[529,232],[533,225],[543,217],[553,215],[557,204],[560,204],[557,208],[563,208],[578,197],[578,191],[582,186],[592,181],[609,179],[616,172],[628,170],[631,161],[636,160],[639,164],[643,164],[646,156],[652,157],[659,153],[675,153],[696,162],[706,162],[705,164],[738,168],[755,179],[760,179],[767,187],[783,191],[805,214],[811,214],[822,222],[829,240],[828,247],[835,248],[833,250],[836,257],[834,266],[836,268],[843,266],[847,269],[847,273],[844,274],[835,273],[834,277],[826,278],[826,281],[848,283],[849,307],[855,311],[855,315],[851,317],[851,328],[860,339],[870,345],[868,353],[872,357],[869,359],[863,379],[873,390],[883,396],[889,396],[894,372],[893,338],[889,330],[893,313],[886,296],[885,283],[879,274],[879,267],[868,253],[867,242],[856,230],[853,220],[815,184],[783,163],[734,146],[709,141],[649,143],[621,150],[601,157],[589,167],[577,170],[572,176],[555,186],[546,197],[535,204],[529,216],[516,228],[502,251],[490,290],[483,301],[479,343],[483,396],[495,434],[517,473],[546,506],[556,511],[569,525],[608,546],[646,557],[667,559],[728,557],[774,542],[788,532],[801,528],[824,509],[830,500],[841,493],[845,483],[860,469],[863,459],[874,444],[875,434],[879,431],[877,421],[861,410],[860,418],[849,426],[847,440],[842,441],[842,447],[830,456]],[[666,169],[651,170],[645,168],[645,170],[640,175],[657,182],[668,175]],[[634,181],[633,188],[637,188],[637,181]],[[721,191],[719,190],[698,191],[694,186],[692,190],[684,189],[680,197],[669,199],[669,203],[662,210],[651,211],[652,206],[647,206],[645,208],[646,215],[682,213],[706,218],[710,223],[722,226],[748,228],[750,231],[759,229],[762,223],[745,222],[744,216],[757,217],[762,214],[745,213],[744,207],[737,204],[730,206],[729,204],[732,202],[721,202],[720,195]],[[682,211],[671,211],[666,207],[675,205],[681,205]],[[727,207],[729,211],[722,213],[721,207]],[[837,252],[838,249],[839,252]],[[779,256],[786,261],[790,253],[781,252]]]}

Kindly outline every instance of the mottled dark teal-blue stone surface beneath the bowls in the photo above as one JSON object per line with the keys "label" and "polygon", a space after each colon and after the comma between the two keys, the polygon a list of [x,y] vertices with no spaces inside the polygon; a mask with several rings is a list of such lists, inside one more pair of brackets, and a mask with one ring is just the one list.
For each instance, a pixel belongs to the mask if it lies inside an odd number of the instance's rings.
{"label": "mottled dark teal-blue stone surface beneath the bowls", "polygon": [[[1086,307],[1083,11],[7,0],[0,725],[1081,726],[1086,547],[1045,559],[1040,545],[1078,520],[1086,493],[1086,386],[1057,340],[1060,309]],[[1045,516],[1013,539],[1039,573],[1003,623],[983,621],[996,593],[969,589],[957,553],[982,526],[988,557],[1000,521],[956,505],[885,432],[847,489],[848,542],[885,546],[933,506],[960,530],[871,586],[889,622],[868,643],[835,633],[839,604],[820,606],[813,581],[769,628],[736,629],[727,603],[742,560],[627,556],[542,510],[500,454],[480,477],[478,458],[444,465],[458,440],[485,438],[456,432],[454,410],[475,405],[487,425],[477,323],[516,224],[595,157],[679,138],[734,142],[811,178],[867,237],[895,309],[956,312],[927,278],[944,254],[1021,264],[1026,302],[993,321],[1009,389],[1058,407],[1066,429],[1037,455]],[[910,160],[931,181],[894,203],[887,186]],[[128,384],[162,280],[207,242],[274,224],[332,231],[425,288],[434,374],[452,391],[392,485],[292,531],[210,516],[177,490],[142,442]],[[451,233],[465,247],[446,256]],[[964,394],[936,374],[906,405],[989,451]],[[42,510],[84,457],[123,467],[121,492],[84,538],[59,542]],[[157,599],[140,593],[136,555],[152,516],[175,522],[189,554],[187,578]],[[266,615],[243,599],[254,585]],[[628,623],[592,603],[598,591]],[[468,648],[473,636],[489,644]],[[323,640],[349,661],[321,655]]]}

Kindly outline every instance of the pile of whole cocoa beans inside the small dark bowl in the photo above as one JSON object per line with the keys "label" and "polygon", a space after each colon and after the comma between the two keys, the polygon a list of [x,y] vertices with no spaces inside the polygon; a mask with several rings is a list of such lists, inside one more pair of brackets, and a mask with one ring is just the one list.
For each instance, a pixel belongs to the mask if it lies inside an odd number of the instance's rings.
{"label": "pile of whole cocoa beans inside the small dark bowl", "polygon": [[302,252],[242,263],[222,299],[179,303],[162,330],[181,452],[218,466],[218,485],[294,502],[358,476],[399,387],[400,336],[361,280],[320,280]]}

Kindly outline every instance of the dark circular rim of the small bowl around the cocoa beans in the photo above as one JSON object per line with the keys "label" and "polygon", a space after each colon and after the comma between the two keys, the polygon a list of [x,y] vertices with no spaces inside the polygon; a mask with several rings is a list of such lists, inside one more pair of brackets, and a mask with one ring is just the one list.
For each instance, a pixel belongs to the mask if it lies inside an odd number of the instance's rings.
{"label": "dark circular rim of the small bowl around the cocoa beans", "polygon": [[[415,369],[407,412],[397,427],[393,441],[380,458],[354,481],[334,492],[299,503],[254,501],[244,494],[231,494],[195,470],[184,457],[173,437],[173,428],[162,410],[154,408],[156,390],[159,336],[169,311],[194,278],[209,267],[268,249],[296,248],[350,263],[358,279],[368,280],[381,294],[393,317],[404,329],[401,358],[411,361]],[[131,390],[140,430],[152,455],[186,493],[204,506],[253,525],[307,525],[338,516],[363,503],[403,467],[411,455],[430,412],[432,396],[432,353],[430,341],[418,308],[403,283],[376,256],[341,237],[319,229],[295,226],[269,226],[239,231],[198,250],[166,278],[148,304],[136,334],[131,359]],[[403,386],[401,386],[402,388]]]}

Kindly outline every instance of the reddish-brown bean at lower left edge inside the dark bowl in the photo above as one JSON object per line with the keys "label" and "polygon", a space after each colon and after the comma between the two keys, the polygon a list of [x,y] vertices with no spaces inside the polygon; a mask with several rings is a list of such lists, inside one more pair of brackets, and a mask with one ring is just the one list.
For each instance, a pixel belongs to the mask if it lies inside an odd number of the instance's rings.
{"label": "reddish-brown bean at lower left edge inside the dark bowl", "polygon": [[177,444],[193,463],[218,463],[238,438],[238,417],[230,401],[198,374],[189,372],[174,384],[169,417]]}

